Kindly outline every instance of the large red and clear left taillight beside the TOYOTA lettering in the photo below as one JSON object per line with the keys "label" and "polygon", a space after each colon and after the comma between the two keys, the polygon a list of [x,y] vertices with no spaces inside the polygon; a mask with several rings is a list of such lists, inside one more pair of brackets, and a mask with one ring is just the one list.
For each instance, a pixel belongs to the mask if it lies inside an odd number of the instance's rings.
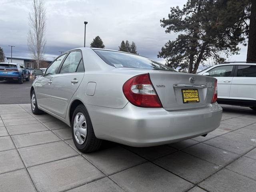
{"label": "large red and clear left taillight beside the TOYOTA lettering", "polygon": [[150,81],[149,74],[130,78],[123,85],[127,100],[138,107],[162,107],[160,99]]}

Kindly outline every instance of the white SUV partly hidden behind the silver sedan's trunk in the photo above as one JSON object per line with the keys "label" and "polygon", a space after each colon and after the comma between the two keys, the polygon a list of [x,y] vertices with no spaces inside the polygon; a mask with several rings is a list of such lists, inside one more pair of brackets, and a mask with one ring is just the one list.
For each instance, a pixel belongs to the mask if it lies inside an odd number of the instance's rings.
{"label": "white SUV partly hidden behind the silver sedan's trunk", "polygon": [[248,106],[256,110],[256,63],[218,64],[198,74],[218,80],[218,103]]}

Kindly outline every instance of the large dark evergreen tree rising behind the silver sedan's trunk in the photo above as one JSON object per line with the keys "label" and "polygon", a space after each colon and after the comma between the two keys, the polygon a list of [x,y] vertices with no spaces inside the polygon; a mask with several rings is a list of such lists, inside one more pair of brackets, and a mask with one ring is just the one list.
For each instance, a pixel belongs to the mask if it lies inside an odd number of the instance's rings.
{"label": "large dark evergreen tree rising behind the silver sedan's trunk", "polygon": [[196,73],[208,58],[223,61],[220,52],[238,54],[238,44],[245,44],[239,20],[245,4],[246,0],[188,0],[182,9],[172,7],[168,19],[160,22],[166,33],[179,35],[162,47],[158,57],[165,58],[168,66]]}

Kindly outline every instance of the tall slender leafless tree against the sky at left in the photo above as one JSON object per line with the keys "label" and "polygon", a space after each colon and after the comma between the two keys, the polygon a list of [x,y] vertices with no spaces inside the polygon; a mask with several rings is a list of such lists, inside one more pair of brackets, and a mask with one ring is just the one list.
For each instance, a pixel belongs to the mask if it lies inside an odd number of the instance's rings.
{"label": "tall slender leafless tree against the sky at left", "polygon": [[33,0],[28,20],[30,26],[27,39],[28,50],[39,68],[40,61],[44,59],[46,45],[46,9],[44,8],[44,0]]}

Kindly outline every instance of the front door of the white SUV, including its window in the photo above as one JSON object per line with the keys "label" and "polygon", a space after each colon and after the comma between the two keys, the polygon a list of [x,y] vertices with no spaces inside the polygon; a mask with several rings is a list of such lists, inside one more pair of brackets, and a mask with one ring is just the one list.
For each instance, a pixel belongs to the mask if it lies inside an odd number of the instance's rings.
{"label": "front door of the white SUV, including its window", "polygon": [[217,66],[209,70],[208,73],[211,77],[215,77],[218,80],[218,98],[228,98],[234,74],[234,66]]}

